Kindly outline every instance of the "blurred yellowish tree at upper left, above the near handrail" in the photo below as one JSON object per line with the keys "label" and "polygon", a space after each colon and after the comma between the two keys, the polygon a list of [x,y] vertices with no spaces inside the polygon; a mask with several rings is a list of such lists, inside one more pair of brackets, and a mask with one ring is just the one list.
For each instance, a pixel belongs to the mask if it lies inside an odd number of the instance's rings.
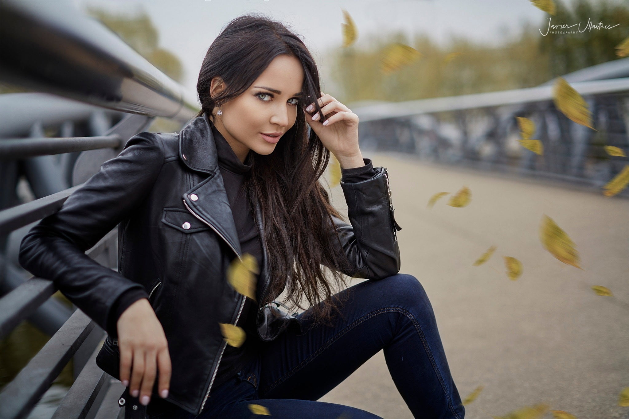
{"label": "blurred yellowish tree at upper left, above the near handrail", "polygon": [[171,79],[181,82],[183,67],[173,53],[159,47],[159,33],[145,11],[135,16],[113,14],[88,6],[87,13],[120,36],[131,48]]}

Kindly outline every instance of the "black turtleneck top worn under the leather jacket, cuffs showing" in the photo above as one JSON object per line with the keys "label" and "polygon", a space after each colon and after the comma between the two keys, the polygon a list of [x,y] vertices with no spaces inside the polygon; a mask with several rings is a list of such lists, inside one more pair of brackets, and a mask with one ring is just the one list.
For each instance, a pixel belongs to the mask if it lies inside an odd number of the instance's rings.
{"label": "black turtleneck top worn under the leather jacket, cuffs showing", "polygon": [[[253,207],[243,189],[243,180],[245,175],[252,167],[252,151],[249,151],[245,163],[238,158],[231,148],[225,137],[216,129],[213,123],[209,122],[214,143],[216,144],[216,152],[218,154],[218,167],[223,177],[225,191],[229,201],[231,212],[238,232],[238,240],[242,254],[250,253],[258,261],[259,271],[262,272],[262,244],[260,242],[260,232],[258,230],[255,218],[253,217]],[[342,169],[342,182],[352,183],[367,180],[376,172],[372,166],[372,162],[368,158],[363,159],[365,165],[355,168]],[[235,258],[236,256],[234,256]],[[259,275],[257,275],[259,280]],[[260,284],[259,284],[260,285]],[[109,316],[108,330],[110,335],[117,336],[116,323],[120,315],[131,304],[147,298],[148,295],[144,290],[129,290],[123,293],[111,308]],[[257,333],[257,312],[259,305],[257,302],[247,298],[245,305],[238,318],[237,325],[242,327],[247,334],[247,338],[241,347],[226,346],[218,373],[214,379],[212,388],[215,389],[231,377],[235,376],[248,361],[257,354],[258,345],[262,342]]]}

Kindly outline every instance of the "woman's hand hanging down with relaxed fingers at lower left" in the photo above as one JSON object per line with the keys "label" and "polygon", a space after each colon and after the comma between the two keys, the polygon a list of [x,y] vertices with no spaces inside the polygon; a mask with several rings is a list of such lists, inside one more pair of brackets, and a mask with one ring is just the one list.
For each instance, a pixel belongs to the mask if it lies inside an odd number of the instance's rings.
{"label": "woman's hand hanging down with relaxed fingers at lower left", "polygon": [[129,384],[131,396],[140,395],[140,403],[148,405],[159,368],[159,394],[166,398],[171,373],[168,342],[162,324],[147,298],[131,304],[118,318],[116,327],[120,349],[120,381],[125,386]]}

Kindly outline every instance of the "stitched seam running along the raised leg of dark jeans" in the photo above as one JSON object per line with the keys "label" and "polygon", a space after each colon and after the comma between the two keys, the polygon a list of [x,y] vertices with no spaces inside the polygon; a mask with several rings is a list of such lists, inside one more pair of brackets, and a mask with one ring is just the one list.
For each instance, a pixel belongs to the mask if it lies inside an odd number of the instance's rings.
{"label": "stitched seam running along the raised leg of dark jeans", "polygon": [[410,313],[407,310],[404,310],[404,308],[400,308],[400,307],[379,308],[378,310],[376,310],[374,312],[367,313],[363,317],[360,317],[357,320],[354,320],[351,324],[347,325],[345,327],[345,329],[341,330],[336,335],[334,335],[330,340],[325,342],[325,344],[323,344],[323,346],[321,346],[314,354],[312,354],[308,358],[304,359],[304,361],[301,361],[301,363],[298,366],[294,367],[291,371],[289,371],[288,373],[284,374],[284,376],[278,378],[274,383],[270,384],[267,388],[265,388],[264,391],[261,391],[260,395],[266,395],[267,393],[269,393],[269,391],[271,391],[272,389],[276,388],[283,381],[286,381],[287,378],[289,378],[290,376],[292,376],[295,373],[297,373],[301,368],[303,368],[310,361],[315,359],[315,357],[317,357],[321,352],[323,352],[325,349],[327,349],[336,340],[340,339],[340,337],[342,337],[344,334],[346,334],[347,332],[352,330],[354,327],[356,327],[360,323],[362,323],[365,320],[367,320],[367,319],[369,319],[371,317],[374,317],[374,316],[376,316],[378,314],[389,313],[389,312],[402,313],[402,314],[406,315],[406,317],[408,317],[411,320],[411,322],[413,322],[413,325],[415,326],[415,329],[417,330],[417,333],[420,336],[421,343],[424,346],[424,350],[426,351],[426,354],[428,355],[428,359],[430,359],[430,363],[433,366],[433,370],[435,371],[435,374],[437,374],[437,378],[439,380],[439,383],[442,386],[443,392],[445,393],[445,395],[446,395],[446,397],[448,399],[448,407],[450,408],[450,411],[452,412],[452,415],[454,415],[455,418],[457,418],[457,419],[462,419],[456,413],[456,411],[454,411],[454,405],[452,404],[452,400],[450,399],[450,395],[448,395],[448,391],[445,388],[445,383],[443,383],[443,378],[441,376],[441,373],[439,372],[439,369],[437,368],[437,363],[435,362],[435,359],[434,359],[434,357],[432,355],[432,352],[430,351],[430,347],[428,347],[428,342],[426,342],[426,337],[424,336],[423,331],[421,330],[420,324],[417,322],[417,320],[415,319],[415,316],[413,316],[412,313]]}

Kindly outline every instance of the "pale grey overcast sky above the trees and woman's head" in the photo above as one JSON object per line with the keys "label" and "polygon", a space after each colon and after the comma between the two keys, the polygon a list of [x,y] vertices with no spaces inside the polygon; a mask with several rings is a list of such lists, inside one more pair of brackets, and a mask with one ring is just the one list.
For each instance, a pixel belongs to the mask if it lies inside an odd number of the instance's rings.
{"label": "pale grey overcast sky above the trees and woman's head", "polygon": [[[342,9],[352,16],[359,33],[387,30],[408,35],[427,33],[445,43],[450,33],[470,40],[499,43],[514,35],[523,21],[540,24],[547,17],[528,0],[73,0],[109,11],[134,14],[144,9],[159,28],[159,45],[175,53],[184,65],[183,84],[196,92],[196,80],[209,45],[231,19],[257,11],[291,24],[325,72],[321,56],[342,45]],[[540,28],[542,25],[540,24]],[[322,80],[329,79],[325,74]],[[322,86],[325,89],[325,85]],[[324,90],[325,91],[325,90]]]}

